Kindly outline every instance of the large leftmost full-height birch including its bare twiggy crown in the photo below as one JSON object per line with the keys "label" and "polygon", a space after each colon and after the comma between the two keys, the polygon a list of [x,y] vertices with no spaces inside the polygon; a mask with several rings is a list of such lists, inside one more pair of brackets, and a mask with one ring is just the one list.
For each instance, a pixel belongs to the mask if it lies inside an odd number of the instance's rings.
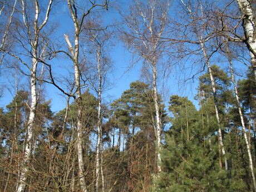
{"label": "large leftmost full-height birch including its bare twiggy crown", "polygon": [[[31,4],[29,4],[31,3]],[[31,7],[30,7],[31,6]],[[28,8],[29,7],[29,8]],[[21,53],[15,53],[15,49],[11,51],[3,50],[3,47],[1,47],[1,50],[8,53],[9,55],[16,58],[19,62],[21,62],[30,72],[30,88],[31,88],[31,105],[30,105],[30,113],[29,118],[27,122],[27,137],[26,137],[26,144],[24,147],[24,157],[23,162],[21,164],[21,170],[19,179],[17,181],[17,191],[24,191],[26,187],[26,180],[28,178],[28,165],[30,156],[32,154],[32,148],[33,148],[33,134],[34,134],[34,123],[36,118],[36,107],[38,102],[38,93],[37,93],[37,68],[38,68],[38,60],[40,57],[43,56],[42,50],[45,50],[42,45],[42,36],[41,32],[43,31],[43,28],[46,26],[46,23],[49,18],[49,14],[52,7],[52,0],[48,1],[46,11],[42,14],[40,14],[40,3],[35,0],[32,2],[27,1],[21,1],[21,18],[22,21],[18,23],[15,31],[16,34],[14,34],[14,38],[16,38],[16,42],[20,43],[21,48],[23,49],[23,56],[21,56]],[[28,12],[29,9],[29,12]],[[31,11],[34,11],[34,18],[31,18]],[[31,22],[32,21],[32,22]],[[11,21],[9,21],[11,23]],[[25,35],[26,34],[26,35]],[[22,42],[23,41],[23,42]],[[26,47],[28,45],[28,47]],[[31,50],[31,51],[28,51]],[[25,53],[28,53],[30,55],[25,55]],[[27,58],[32,58],[31,64],[28,64],[26,62]],[[20,68],[21,70],[21,68]]]}

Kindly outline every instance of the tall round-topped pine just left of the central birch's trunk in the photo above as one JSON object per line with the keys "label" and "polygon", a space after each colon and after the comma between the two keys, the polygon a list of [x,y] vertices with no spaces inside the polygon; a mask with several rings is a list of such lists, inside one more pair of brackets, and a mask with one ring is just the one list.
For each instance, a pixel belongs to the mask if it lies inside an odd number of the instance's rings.
{"label": "tall round-topped pine just left of the central birch's trunk", "polygon": [[[111,116],[112,125],[125,127],[125,151],[127,151],[127,190],[150,190],[152,186],[151,173],[157,172],[157,145],[155,144],[156,112],[151,95],[153,90],[149,84],[141,81],[130,83],[130,88],[124,91],[111,106],[115,113]],[[159,99],[161,97],[159,96]],[[164,124],[164,104],[161,106],[161,123]],[[126,131],[126,132],[125,132]]]}

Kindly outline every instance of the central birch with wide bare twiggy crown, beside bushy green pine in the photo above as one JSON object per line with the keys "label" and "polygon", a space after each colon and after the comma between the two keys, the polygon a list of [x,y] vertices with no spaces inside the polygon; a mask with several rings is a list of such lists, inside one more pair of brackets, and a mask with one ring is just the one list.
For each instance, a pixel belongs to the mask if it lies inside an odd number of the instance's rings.
{"label": "central birch with wide bare twiggy crown, beside bushy green pine", "polygon": [[[133,1],[129,7],[129,14],[121,13],[124,20],[124,30],[122,31],[123,41],[131,53],[139,56],[144,63],[143,67],[149,68],[150,81],[153,89],[152,98],[156,110],[156,151],[157,151],[157,170],[161,171],[160,148],[161,148],[161,116],[159,107],[159,98],[157,95],[157,68],[163,58],[164,42],[162,37],[165,35],[169,1],[147,0]],[[158,71],[159,72],[159,71]]]}

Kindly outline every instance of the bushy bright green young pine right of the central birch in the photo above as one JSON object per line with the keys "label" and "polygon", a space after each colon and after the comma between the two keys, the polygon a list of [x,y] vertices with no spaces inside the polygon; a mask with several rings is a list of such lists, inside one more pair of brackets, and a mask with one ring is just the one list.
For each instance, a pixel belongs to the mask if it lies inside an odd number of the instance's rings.
{"label": "bushy bright green young pine right of the central birch", "polygon": [[218,138],[205,138],[210,129],[202,130],[200,113],[186,97],[171,96],[169,104],[173,117],[162,150],[160,191],[229,191],[227,172],[219,170]]}

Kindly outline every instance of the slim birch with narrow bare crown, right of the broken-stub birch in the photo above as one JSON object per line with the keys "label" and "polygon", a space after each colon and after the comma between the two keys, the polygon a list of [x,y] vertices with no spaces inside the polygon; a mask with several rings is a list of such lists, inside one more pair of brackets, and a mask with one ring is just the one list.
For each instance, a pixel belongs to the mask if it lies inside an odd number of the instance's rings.
{"label": "slim birch with narrow bare crown, right of the broken-stub birch", "polygon": [[[99,191],[99,179],[101,174],[102,191],[105,191],[104,173],[103,173],[103,142],[102,142],[102,118],[104,109],[102,107],[102,92],[106,88],[107,73],[111,69],[111,60],[107,57],[107,50],[110,50],[110,38],[113,33],[105,28],[99,19],[89,19],[85,24],[86,40],[88,42],[88,53],[92,57],[90,62],[92,70],[89,78],[92,89],[97,95],[97,144],[96,144],[96,173],[95,173],[95,192]],[[87,57],[87,60],[89,59]],[[101,171],[101,172],[100,172]]]}

